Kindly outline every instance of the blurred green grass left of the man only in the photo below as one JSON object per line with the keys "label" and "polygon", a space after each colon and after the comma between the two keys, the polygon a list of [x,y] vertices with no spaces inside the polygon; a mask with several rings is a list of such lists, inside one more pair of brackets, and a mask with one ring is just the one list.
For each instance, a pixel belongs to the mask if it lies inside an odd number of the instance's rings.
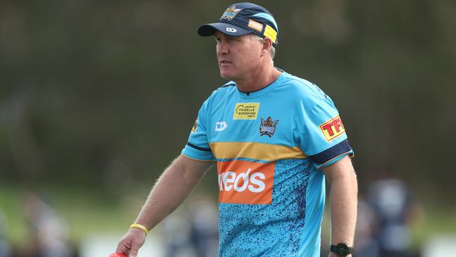
{"label": "blurred green grass left of the man only", "polygon": [[[40,187],[54,208],[65,217],[73,242],[94,232],[125,232],[135,219],[147,191],[125,195],[109,195],[99,189],[84,187]],[[27,238],[29,228],[25,220],[22,188],[0,187],[0,210],[8,220],[7,238],[19,244]]]}

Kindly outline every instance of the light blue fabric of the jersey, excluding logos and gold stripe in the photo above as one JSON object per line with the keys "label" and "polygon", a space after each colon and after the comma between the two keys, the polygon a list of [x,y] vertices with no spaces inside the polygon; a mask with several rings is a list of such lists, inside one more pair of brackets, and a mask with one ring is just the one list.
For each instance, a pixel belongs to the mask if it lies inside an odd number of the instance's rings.
{"label": "light blue fabric of the jersey, excluding logos and gold stripe", "polygon": [[[257,119],[233,119],[236,103],[258,103]],[[230,81],[203,103],[198,127],[190,133],[182,154],[192,159],[216,160],[219,167],[236,161],[275,164],[270,204],[219,203],[220,256],[320,256],[325,181],[323,173],[307,157],[332,151],[333,146],[347,140],[344,133],[328,141],[320,129],[321,124],[337,115],[333,100],[318,86],[286,72],[274,83],[251,93],[239,91]],[[262,122],[269,117],[277,121],[274,133],[261,135]],[[226,126],[220,125],[223,123]],[[216,159],[217,153],[210,152],[210,144],[227,142],[297,147],[307,157],[269,161]],[[328,158],[340,154],[343,153],[330,152]]]}

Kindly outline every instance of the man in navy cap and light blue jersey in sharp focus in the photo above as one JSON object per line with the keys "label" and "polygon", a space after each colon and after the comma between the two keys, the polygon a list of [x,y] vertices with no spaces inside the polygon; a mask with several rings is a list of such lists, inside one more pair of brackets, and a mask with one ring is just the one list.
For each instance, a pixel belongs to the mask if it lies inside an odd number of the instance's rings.
{"label": "man in navy cap and light blue jersey in sharp focus", "polygon": [[217,162],[220,256],[320,256],[325,175],[331,256],[350,256],[357,183],[344,126],[316,85],[273,65],[279,28],[269,11],[233,4],[198,33],[214,36],[229,80],[203,103],[180,157],[163,172],[116,251],[136,256],[148,230]]}

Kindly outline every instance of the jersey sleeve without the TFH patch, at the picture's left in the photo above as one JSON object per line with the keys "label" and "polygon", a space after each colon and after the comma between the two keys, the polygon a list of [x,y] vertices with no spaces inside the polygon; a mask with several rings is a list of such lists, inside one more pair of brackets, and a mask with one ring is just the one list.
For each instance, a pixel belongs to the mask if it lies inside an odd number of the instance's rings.
{"label": "jersey sleeve without the TFH patch, at the picture's left", "polygon": [[182,154],[190,159],[196,159],[199,161],[215,161],[215,157],[212,150],[210,150],[208,143],[206,115],[207,105],[208,101],[206,100],[198,112],[198,117],[196,118],[192,131],[190,132],[187,144],[182,150]]}

